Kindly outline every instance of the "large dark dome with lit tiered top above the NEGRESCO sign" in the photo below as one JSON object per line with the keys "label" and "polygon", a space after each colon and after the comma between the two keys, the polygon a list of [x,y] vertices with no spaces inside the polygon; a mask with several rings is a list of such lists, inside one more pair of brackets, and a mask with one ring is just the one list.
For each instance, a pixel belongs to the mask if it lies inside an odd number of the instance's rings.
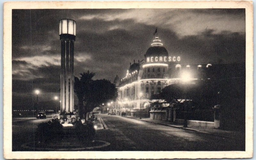
{"label": "large dark dome with lit tiered top above the NEGRESCO sign", "polygon": [[145,57],[169,56],[168,51],[163,47],[163,43],[160,43],[161,40],[159,40],[158,37],[156,37],[153,42],[154,43],[151,44],[151,47],[148,48]]}

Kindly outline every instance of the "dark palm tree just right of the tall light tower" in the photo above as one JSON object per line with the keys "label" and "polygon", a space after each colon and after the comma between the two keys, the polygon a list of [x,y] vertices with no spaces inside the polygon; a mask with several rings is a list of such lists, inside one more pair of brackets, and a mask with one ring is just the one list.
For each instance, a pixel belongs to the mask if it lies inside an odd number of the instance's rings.
{"label": "dark palm tree just right of the tall light tower", "polygon": [[89,97],[90,83],[93,82],[92,77],[95,76],[95,73],[88,71],[86,73],[80,73],[80,75],[80,80],[79,78],[74,77],[74,92],[78,98],[79,117],[84,118],[84,113],[86,112],[84,108],[84,99]]}

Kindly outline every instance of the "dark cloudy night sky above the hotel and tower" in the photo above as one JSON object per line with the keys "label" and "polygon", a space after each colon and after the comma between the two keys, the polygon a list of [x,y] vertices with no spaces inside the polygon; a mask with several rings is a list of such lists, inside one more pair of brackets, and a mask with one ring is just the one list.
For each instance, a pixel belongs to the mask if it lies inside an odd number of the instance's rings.
{"label": "dark cloudy night sky above the hotel and tower", "polygon": [[[76,21],[75,76],[113,82],[142,60],[158,30],[180,64],[244,63],[245,9],[12,10],[12,106],[60,96],[59,20]],[[76,96],[75,96],[76,97]]]}

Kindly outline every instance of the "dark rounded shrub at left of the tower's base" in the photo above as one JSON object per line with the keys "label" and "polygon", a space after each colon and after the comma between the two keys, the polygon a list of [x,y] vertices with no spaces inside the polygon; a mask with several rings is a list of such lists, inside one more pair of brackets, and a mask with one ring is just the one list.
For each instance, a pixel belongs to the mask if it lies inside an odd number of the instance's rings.
{"label": "dark rounded shrub at left of the tower's base", "polygon": [[46,142],[53,139],[62,139],[64,132],[63,127],[57,118],[48,122],[41,123],[36,129],[37,139],[40,142]]}

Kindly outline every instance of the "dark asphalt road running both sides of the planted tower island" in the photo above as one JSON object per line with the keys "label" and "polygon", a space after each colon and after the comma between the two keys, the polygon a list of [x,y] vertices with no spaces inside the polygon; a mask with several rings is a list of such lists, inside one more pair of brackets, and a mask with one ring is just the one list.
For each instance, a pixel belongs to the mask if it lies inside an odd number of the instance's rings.
{"label": "dark asphalt road running both sides of the planted tower island", "polygon": [[[96,131],[96,140],[109,146],[95,151],[228,151],[244,150],[244,142],[194,131],[163,126],[120,116],[100,115],[106,130]],[[23,143],[34,141],[37,125],[47,119],[14,122],[13,151],[22,151]]]}

